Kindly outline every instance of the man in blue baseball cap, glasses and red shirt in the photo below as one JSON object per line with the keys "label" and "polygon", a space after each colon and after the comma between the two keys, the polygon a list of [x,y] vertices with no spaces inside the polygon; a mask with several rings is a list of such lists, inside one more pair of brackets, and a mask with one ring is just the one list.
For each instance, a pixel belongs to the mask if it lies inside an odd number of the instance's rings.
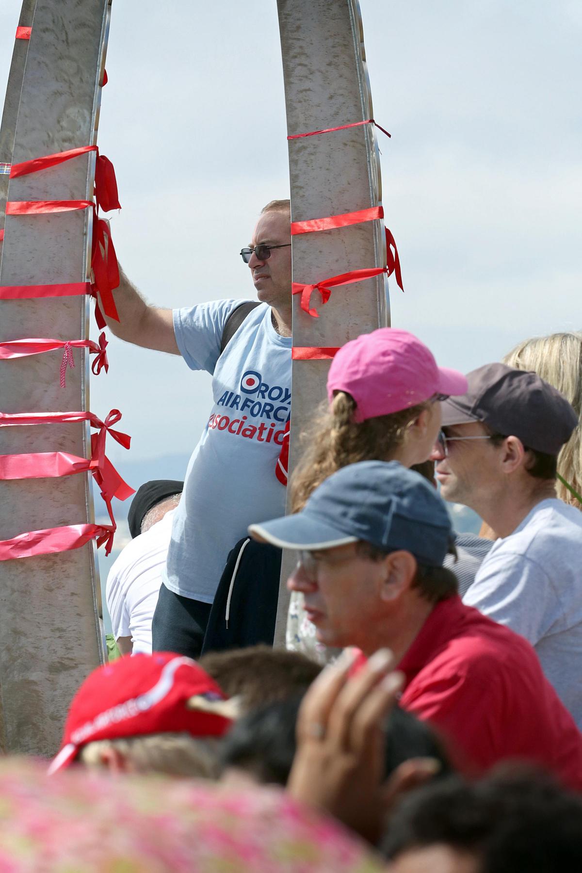
{"label": "man in blue baseball cap, glasses and red shirt", "polygon": [[445,505],[401,464],[365,461],[334,473],[302,512],[249,532],[298,550],[288,581],[328,646],[364,656],[388,647],[401,705],[448,737],[463,769],[535,761],[582,790],[582,735],[523,637],[465,606]]}

